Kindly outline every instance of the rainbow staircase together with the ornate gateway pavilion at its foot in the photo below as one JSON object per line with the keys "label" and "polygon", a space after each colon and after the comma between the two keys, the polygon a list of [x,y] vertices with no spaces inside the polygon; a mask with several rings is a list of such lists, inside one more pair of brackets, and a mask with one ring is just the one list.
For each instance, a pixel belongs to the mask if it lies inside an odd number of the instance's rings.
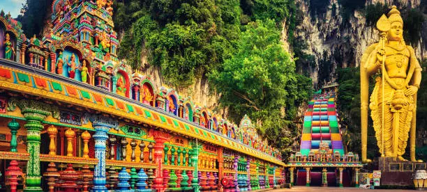
{"label": "rainbow staircase together with the ornate gateway pavilion at its foot", "polygon": [[359,154],[345,153],[335,103],[337,89],[337,83],[328,84],[308,102],[300,150],[287,164],[291,184],[359,187],[362,164]]}

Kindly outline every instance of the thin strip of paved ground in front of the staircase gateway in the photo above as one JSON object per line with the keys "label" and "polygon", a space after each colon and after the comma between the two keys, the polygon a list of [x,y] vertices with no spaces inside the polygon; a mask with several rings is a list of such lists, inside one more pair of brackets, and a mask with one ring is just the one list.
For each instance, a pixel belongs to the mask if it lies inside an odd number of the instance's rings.
{"label": "thin strip of paved ground in front of the staircase gateway", "polygon": [[375,192],[375,191],[414,191],[414,190],[402,190],[402,189],[356,189],[356,188],[338,188],[338,187],[320,187],[320,186],[293,186],[292,189],[275,189],[270,190],[274,192],[284,191],[284,192],[290,192],[290,191],[304,191],[304,192],[321,192],[321,191],[327,191],[327,192],[351,192],[351,191],[357,191],[357,192]]}

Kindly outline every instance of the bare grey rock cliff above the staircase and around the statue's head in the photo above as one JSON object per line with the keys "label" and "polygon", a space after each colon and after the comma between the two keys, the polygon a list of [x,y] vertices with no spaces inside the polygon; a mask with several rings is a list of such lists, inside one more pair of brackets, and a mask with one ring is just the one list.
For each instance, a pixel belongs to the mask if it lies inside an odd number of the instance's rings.
{"label": "bare grey rock cliff above the staircase and around the statue's head", "polygon": [[[308,47],[306,54],[313,55],[315,65],[308,70],[308,74],[313,79],[315,86],[322,86],[326,81],[331,81],[336,77],[337,67],[357,67],[363,51],[373,42],[378,41],[378,32],[374,27],[367,26],[366,18],[361,10],[355,10],[352,15],[344,21],[341,16],[343,7],[338,0],[330,0],[326,13],[314,16],[310,14],[310,6],[307,0],[296,0],[297,8],[302,12],[302,22],[294,30],[295,38],[306,40]],[[367,0],[369,3],[387,3],[391,5],[393,0]],[[400,4],[407,7],[417,7],[420,0],[402,1]],[[426,22],[423,24],[426,29]],[[286,26],[283,27],[286,30]],[[423,30],[425,31],[425,30]],[[426,32],[422,32],[420,42],[416,47],[417,57],[425,58],[426,53]],[[285,38],[282,38],[285,40]],[[288,43],[286,42],[285,45]],[[319,74],[325,72],[320,65],[321,60],[330,61],[329,74]],[[328,70],[326,70],[328,72]],[[324,77],[327,78],[324,78]]]}

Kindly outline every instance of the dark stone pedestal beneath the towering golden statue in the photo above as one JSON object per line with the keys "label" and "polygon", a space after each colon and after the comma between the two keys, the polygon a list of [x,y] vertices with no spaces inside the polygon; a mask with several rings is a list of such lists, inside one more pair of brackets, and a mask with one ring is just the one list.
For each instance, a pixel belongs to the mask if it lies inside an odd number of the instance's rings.
{"label": "dark stone pedestal beneath the towering golden statue", "polygon": [[426,169],[427,163],[394,161],[391,157],[380,157],[378,168],[381,170],[381,185],[413,186],[414,173]]}

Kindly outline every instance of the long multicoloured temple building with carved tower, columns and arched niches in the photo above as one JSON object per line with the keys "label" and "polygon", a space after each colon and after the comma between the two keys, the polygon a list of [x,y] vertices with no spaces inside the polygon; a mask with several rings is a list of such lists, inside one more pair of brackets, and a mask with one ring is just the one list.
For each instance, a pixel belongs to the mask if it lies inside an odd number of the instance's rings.
{"label": "long multicoloured temple building with carved tower, columns and arched niches", "polygon": [[278,150],[117,59],[112,1],[54,0],[50,33],[0,15],[0,189],[249,191]]}

